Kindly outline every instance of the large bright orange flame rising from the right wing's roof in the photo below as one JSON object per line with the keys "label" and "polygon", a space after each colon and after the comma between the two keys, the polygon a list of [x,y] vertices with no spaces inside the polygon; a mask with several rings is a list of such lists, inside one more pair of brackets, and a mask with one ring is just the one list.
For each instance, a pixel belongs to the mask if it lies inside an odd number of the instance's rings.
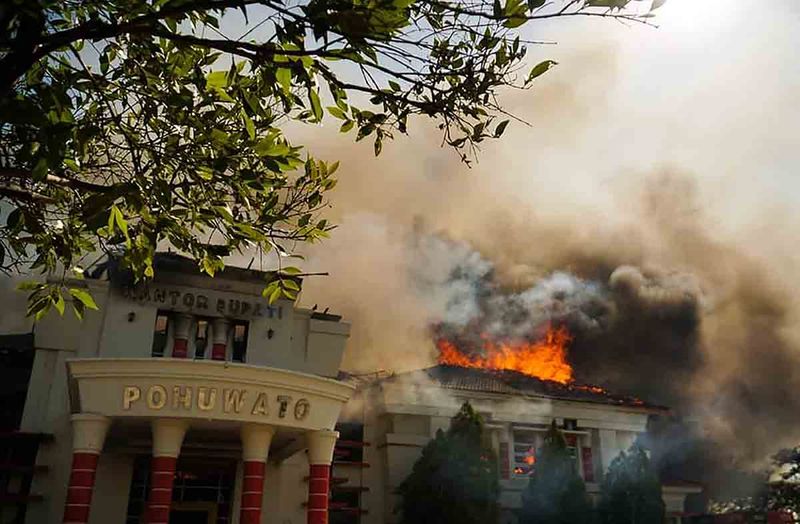
{"label": "large bright orange flame rising from the right wing's roof", "polygon": [[567,345],[572,340],[564,327],[549,326],[536,342],[492,342],[484,340],[485,357],[462,353],[449,340],[440,339],[439,364],[465,368],[511,370],[561,384],[572,382],[572,366],[567,362]]}

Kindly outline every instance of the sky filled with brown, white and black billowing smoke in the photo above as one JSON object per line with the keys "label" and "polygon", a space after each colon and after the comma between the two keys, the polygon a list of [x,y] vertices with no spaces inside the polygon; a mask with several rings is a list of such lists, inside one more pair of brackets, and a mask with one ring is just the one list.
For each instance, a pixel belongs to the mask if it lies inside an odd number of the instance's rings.
{"label": "sky filled with brown, white and black billowing smoke", "polygon": [[489,307],[502,330],[509,301],[566,308],[595,324],[576,328],[580,379],[682,406],[749,457],[800,440],[799,18],[795,0],[669,0],[658,29],[531,26],[558,42],[531,61],[560,64],[507,94],[531,126],[472,169],[422,121],[378,159],[335,122],[298,131],[342,161],[339,228],[304,268],[331,276],[303,301],[353,323],[344,367],[430,365],[433,323]]}

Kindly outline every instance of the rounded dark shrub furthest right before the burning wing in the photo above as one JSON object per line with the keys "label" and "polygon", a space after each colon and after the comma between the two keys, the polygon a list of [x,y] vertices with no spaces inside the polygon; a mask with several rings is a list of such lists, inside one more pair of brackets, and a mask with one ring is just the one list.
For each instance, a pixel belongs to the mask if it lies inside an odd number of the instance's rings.
{"label": "rounded dark shrub furthest right before the burning wing", "polygon": [[602,524],[650,524],[664,521],[661,483],[647,452],[634,444],[611,463],[601,485]]}

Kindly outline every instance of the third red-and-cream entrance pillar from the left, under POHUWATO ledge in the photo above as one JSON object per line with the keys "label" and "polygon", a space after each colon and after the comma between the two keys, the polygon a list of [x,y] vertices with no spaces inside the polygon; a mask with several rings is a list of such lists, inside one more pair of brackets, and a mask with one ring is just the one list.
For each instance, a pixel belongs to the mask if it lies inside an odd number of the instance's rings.
{"label": "third red-and-cream entrance pillar from the left, under POHUWATO ledge", "polygon": [[260,524],[261,501],[264,499],[264,471],[275,428],[266,424],[243,424],[242,437],[242,504],[240,524]]}

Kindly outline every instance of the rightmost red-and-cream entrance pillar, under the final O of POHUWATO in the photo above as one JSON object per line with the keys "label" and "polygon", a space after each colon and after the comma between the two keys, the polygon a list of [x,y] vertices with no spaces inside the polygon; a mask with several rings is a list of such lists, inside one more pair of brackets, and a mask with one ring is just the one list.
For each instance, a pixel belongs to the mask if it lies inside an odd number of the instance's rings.
{"label": "rightmost red-and-cream entrance pillar, under the final O of POHUWATO", "polygon": [[308,524],[328,524],[333,447],[338,431],[321,429],[306,435],[308,440]]}

